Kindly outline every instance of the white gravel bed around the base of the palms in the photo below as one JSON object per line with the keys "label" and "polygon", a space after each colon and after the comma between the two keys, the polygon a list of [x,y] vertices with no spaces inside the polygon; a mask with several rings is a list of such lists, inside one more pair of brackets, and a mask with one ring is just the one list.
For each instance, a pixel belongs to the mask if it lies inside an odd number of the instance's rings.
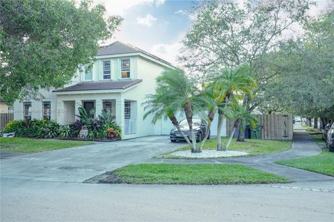
{"label": "white gravel bed around the base of the palms", "polygon": [[192,158],[235,157],[238,155],[248,155],[248,153],[241,151],[216,151],[216,150],[205,150],[202,151],[202,153],[191,153],[191,151],[176,151],[170,154],[179,157],[192,157]]}

